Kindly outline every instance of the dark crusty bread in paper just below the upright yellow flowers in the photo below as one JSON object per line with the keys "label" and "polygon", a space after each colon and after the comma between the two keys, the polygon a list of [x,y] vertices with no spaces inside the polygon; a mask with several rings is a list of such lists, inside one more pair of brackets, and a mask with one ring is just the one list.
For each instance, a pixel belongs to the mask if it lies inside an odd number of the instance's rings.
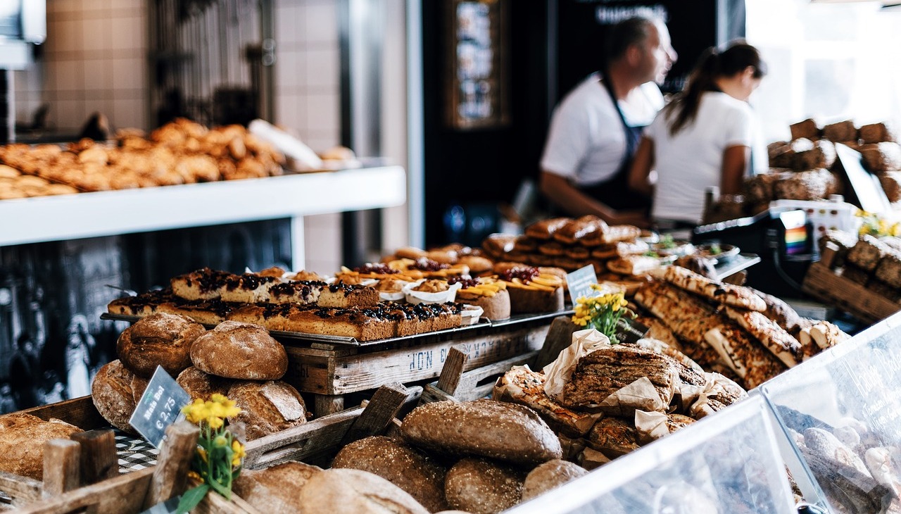
{"label": "dark crusty bread in paper just below the upright yellow flowers", "polygon": [[[561,403],[577,410],[597,409],[617,390],[633,381],[647,378],[651,380],[665,408],[669,406],[675,392],[678,372],[675,361],[665,355],[616,344],[588,353],[578,360],[576,370],[563,388]],[[614,409],[620,412],[622,407],[625,406]]]}

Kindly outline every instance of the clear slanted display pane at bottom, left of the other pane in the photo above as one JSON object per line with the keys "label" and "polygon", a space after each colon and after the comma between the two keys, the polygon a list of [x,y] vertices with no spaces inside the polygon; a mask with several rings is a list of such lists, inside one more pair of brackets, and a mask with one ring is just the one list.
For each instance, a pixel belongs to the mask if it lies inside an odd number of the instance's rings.
{"label": "clear slanted display pane at bottom, left of the other pane", "polygon": [[796,512],[775,441],[752,396],[506,512]]}

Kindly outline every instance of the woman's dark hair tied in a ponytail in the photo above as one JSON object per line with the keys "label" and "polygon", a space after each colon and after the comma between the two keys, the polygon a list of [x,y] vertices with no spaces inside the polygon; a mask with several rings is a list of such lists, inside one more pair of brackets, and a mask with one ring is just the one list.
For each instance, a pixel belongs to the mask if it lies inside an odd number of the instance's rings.
{"label": "woman's dark hair tied in a ponytail", "polygon": [[733,77],[749,66],[754,69],[754,78],[767,74],[767,63],[760,59],[760,51],[744,41],[735,41],[722,52],[714,47],[705,50],[688,77],[687,87],[664,107],[667,121],[671,122],[669,134],[676,135],[695,121],[701,96],[718,90],[717,78]]}

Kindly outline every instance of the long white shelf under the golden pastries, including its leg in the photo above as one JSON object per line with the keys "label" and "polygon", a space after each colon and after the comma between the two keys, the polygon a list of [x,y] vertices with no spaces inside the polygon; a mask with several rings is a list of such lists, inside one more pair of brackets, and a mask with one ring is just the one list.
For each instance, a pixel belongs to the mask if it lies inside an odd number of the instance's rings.
{"label": "long white shelf under the golden pastries, including its leg", "polygon": [[0,246],[291,218],[292,265],[303,269],[303,216],[395,207],[400,166],[266,179],[0,200]]}

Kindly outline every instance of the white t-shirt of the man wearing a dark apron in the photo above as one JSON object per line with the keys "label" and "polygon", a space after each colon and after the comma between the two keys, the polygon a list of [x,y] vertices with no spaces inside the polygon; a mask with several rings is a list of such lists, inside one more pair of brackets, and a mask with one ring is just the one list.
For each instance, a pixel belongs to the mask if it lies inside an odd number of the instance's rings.
{"label": "white t-shirt of the man wearing a dark apron", "polygon": [[[637,87],[619,101],[629,126],[651,124],[663,107],[663,95],[653,82]],[[544,145],[542,170],[572,180],[577,186],[612,179],[625,156],[625,131],[613,99],[593,73],[554,109]]]}

